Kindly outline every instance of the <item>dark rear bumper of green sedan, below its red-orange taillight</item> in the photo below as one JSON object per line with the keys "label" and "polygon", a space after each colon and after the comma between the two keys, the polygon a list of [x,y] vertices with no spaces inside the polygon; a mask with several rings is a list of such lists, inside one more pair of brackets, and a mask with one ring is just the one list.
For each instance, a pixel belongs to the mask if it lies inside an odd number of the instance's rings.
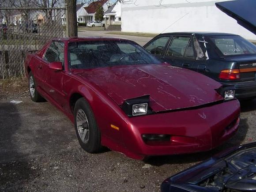
{"label": "dark rear bumper of green sedan, below its red-orange taillight", "polygon": [[219,82],[219,83],[222,83],[222,85],[234,86],[236,98],[238,99],[256,98],[256,81],[245,81],[245,82],[235,82],[235,83]]}

